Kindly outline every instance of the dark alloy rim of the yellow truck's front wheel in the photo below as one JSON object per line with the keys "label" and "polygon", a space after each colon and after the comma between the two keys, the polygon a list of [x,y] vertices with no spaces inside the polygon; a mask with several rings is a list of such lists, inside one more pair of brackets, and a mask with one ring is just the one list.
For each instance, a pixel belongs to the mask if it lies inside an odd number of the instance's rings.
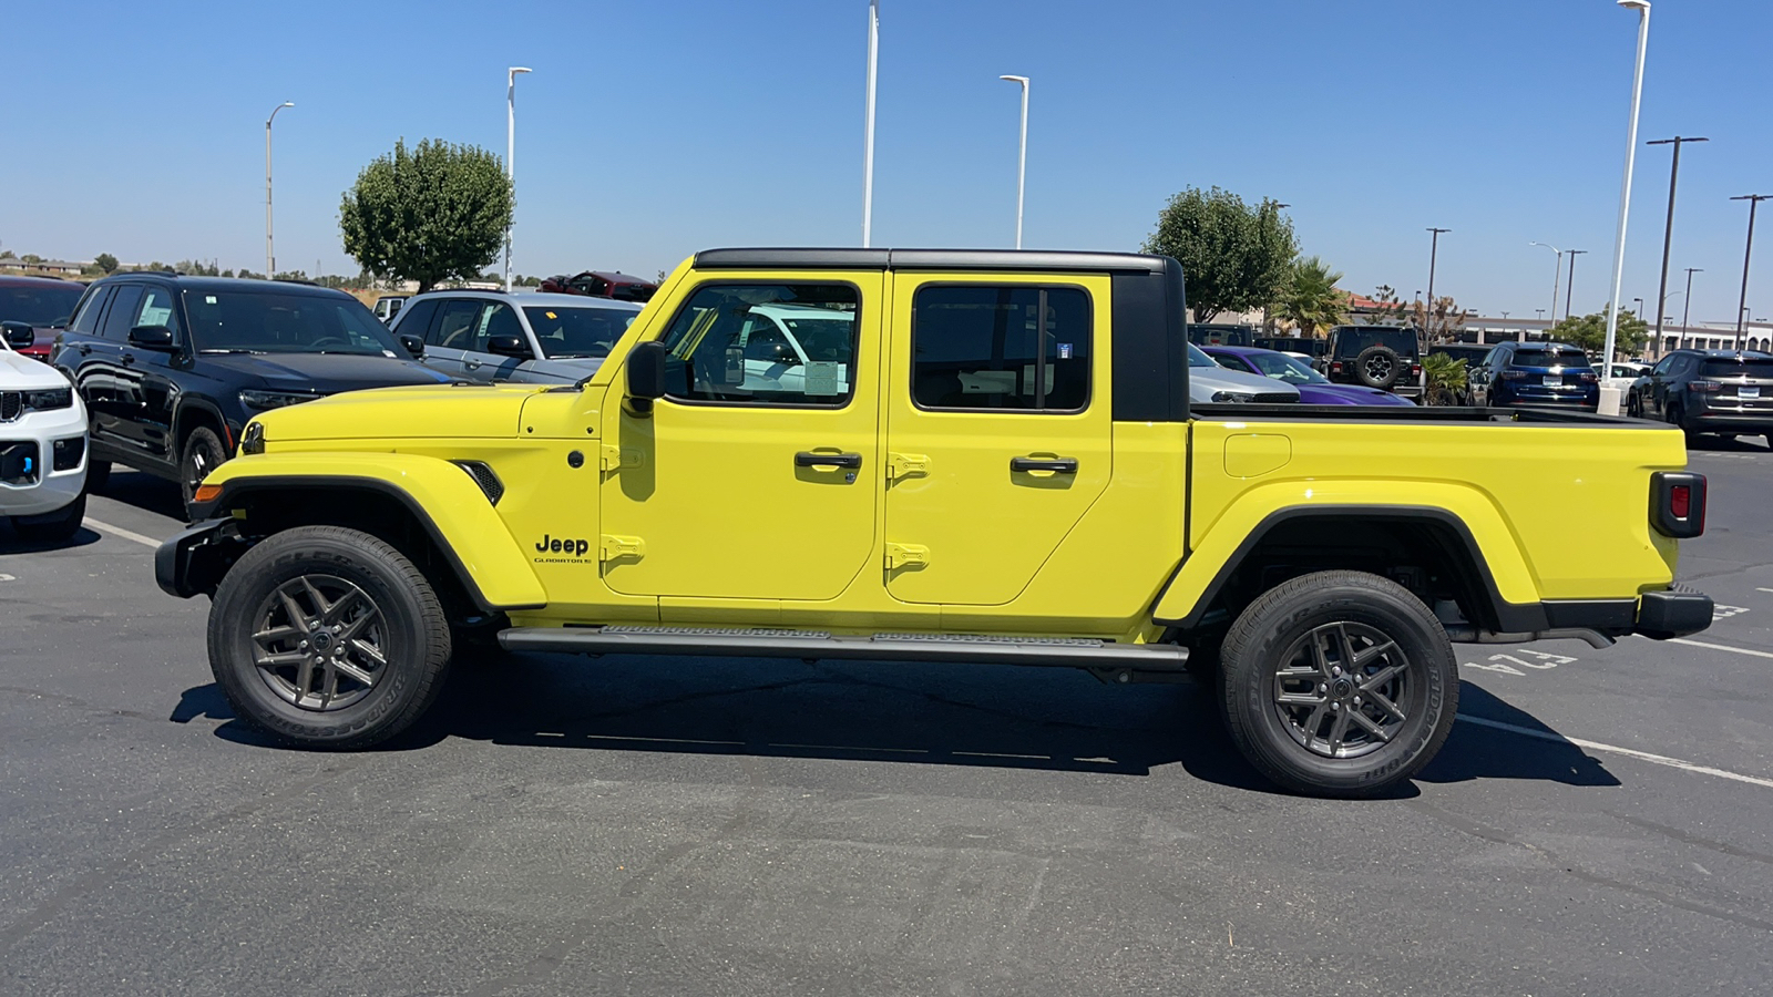
{"label": "dark alloy rim of the yellow truck's front wheel", "polygon": [[387,672],[387,642],[381,608],[337,575],[291,578],[254,614],[259,678],[301,710],[344,710],[369,695]]}

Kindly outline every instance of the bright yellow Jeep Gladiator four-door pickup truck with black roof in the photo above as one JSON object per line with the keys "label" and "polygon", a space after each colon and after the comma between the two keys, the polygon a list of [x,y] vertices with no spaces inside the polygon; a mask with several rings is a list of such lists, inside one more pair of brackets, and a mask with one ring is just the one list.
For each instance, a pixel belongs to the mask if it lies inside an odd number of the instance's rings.
{"label": "bright yellow Jeep Gladiator four-door pickup truck with black roof", "polygon": [[709,250],[578,385],[261,415],[156,575],[213,596],[216,681],[298,745],[408,727],[479,632],[1197,672],[1250,763],[1340,797],[1440,749],[1452,642],[1711,621],[1672,584],[1706,511],[1677,429],[1191,406],[1186,348],[1174,259]]}

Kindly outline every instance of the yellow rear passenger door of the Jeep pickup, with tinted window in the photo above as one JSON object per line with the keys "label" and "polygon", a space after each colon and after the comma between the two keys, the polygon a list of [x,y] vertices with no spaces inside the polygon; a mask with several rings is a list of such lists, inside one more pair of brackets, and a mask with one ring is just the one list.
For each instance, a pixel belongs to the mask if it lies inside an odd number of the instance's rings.
{"label": "yellow rear passenger door of the Jeep pickup, with tinted window", "polygon": [[1113,470],[1108,279],[895,273],[892,294],[886,591],[1009,603]]}

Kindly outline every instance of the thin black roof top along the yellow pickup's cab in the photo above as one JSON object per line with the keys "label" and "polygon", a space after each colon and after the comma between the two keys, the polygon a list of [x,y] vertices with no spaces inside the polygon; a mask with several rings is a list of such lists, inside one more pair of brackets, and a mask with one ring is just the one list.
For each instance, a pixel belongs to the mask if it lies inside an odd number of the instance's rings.
{"label": "thin black roof top along the yellow pickup's cab", "polygon": [[715,248],[697,270],[1069,270],[1163,273],[1170,257],[1069,250]]}

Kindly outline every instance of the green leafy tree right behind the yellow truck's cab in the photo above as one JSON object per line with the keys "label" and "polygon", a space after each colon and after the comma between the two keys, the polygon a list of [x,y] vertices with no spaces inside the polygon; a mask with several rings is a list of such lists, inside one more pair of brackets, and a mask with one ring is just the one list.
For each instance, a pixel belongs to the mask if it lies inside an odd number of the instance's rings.
{"label": "green leafy tree right behind the yellow truck's cab", "polygon": [[1195,321],[1213,321],[1220,312],[1248,312],[1275,302],[1298,241],[1278,202],[1264,199],[1252,208],[1227,190],[1191,186],[1163,206],[1144,250],[1181,261]]}

